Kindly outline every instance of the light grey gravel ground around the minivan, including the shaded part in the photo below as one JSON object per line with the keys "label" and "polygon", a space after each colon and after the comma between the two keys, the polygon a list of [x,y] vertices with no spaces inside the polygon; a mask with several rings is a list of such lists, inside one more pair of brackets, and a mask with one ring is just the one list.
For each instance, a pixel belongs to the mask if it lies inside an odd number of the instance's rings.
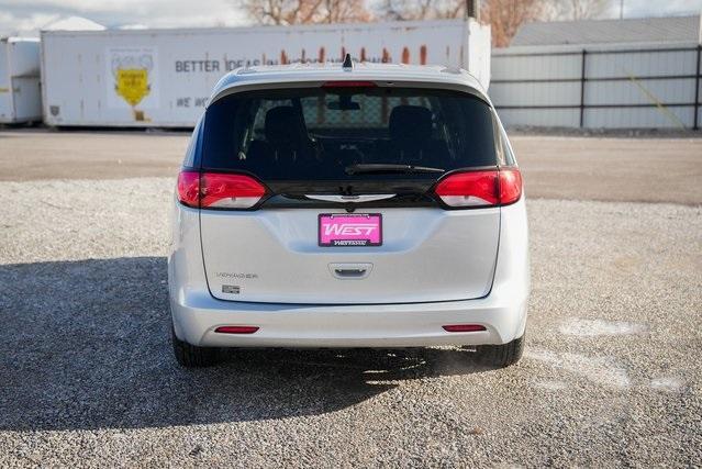
{"label": "light grey gravel ground around the minivan, including the shaded part", "polygon": [[523,360],[171,357],[165,178],[0,185],[0,466],[700,466],[702,209],[531,200]]}

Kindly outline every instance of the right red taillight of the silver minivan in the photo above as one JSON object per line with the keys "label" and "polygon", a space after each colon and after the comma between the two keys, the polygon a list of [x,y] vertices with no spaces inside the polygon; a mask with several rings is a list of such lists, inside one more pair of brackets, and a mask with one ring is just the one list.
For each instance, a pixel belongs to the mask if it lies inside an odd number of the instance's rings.
{"label": "right red taillight of the silver minivan", "polygon": [[515,167],[454,172],[434,193],[452,208],[509,205],[522,197],[522,174]]}

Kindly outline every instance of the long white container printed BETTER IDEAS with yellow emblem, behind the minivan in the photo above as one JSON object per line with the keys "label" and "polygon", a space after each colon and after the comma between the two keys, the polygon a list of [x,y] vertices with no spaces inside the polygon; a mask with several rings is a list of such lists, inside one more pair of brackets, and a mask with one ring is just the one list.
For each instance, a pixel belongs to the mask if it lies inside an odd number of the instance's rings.
{"label": "long white container printed BETTER IDEAS with yellow emblem, behind the minivan", "polygon": [[[487,89],[490,27],[472,20],[201,30],[42,32],[48,125],[192,126],[244,66],[359,62],[463,67]],[[341,66],[341,65],[339,65]]]}

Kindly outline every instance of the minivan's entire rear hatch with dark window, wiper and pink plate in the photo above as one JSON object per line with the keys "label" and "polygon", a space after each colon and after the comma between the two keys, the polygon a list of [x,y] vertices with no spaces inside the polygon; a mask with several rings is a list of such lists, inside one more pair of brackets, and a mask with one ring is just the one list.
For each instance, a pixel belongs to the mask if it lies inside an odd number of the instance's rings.
{"label": "minivan's entire rear hatch with dark window, wiper and pink plate", "polygon": [[490,105],[454,90],[331,82],[219,99],[190,168],[210,197],[200,224],[212,295],[314,304],[484,297],[500,209],[470,197],[452,206],[436,187],[457,172],[495,171],[494,135]]}

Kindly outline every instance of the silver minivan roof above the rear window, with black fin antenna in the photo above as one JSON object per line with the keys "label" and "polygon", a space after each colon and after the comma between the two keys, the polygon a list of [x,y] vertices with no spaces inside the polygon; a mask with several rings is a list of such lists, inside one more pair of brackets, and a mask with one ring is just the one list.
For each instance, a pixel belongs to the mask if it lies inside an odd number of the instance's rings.
{"label": "silver minivan roof above the rear window, with black fin antenna", "polygon": [[354,63],[344,68],[341,63],[289,64],[242,67],[230,71],[214,86],[210,102],[238,91],[237,88],[255,89],[257,86],[271,86],[294,82],[324,81],[385,81],[426,83],[437,88],[465,89],[489,101],[480,82],[466,70],[454,67]]}

